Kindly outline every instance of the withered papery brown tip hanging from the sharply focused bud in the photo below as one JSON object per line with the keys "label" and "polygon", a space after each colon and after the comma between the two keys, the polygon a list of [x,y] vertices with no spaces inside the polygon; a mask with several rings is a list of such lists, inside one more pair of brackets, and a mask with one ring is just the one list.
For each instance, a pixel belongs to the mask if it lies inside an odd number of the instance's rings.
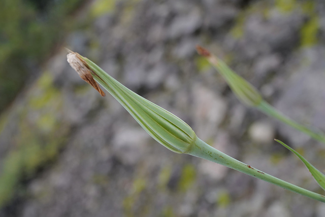
{"label": "withered papery brown tip hanging from the sharply focused bud", "polygon": [[100,88],[98,83],[92,78],[92,75],[95,75],[94,71],[91,70],[89,67],[87,67],[87,64],[85,61],[80,58],[80,54],[69,51],[69,54],[67,55],[67,60],[71,67],[75,69],[80,76],[82,80],[90,84],[93,88],[95,88],[101,96],[105,96],[106,94],[104,91]]}

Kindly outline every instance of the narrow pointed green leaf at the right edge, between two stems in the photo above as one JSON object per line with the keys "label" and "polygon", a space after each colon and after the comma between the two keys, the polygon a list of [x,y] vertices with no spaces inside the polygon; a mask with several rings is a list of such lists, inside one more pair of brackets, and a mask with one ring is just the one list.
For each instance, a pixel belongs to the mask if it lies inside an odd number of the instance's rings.
{"label": "narrow pointed green leaf at the right edge, between two stems", "polygon": [[316,169],[301,154],[299,154],[293,148],[290,148],[289,146],[287,146],[287,144],[285,144],[284,142],[282,142],[282,141],[280,141],[278,139],[274,139],[274,140],[277,141],[277,142],[279,142],[280,144],[282,144],[282,146],[284,146],[285,148],[287,148],[288,150],[290,150],[292,153],[294,153],[298,158],[300,158],[300,160],[306,165],[306,167],[308,168],[309,172],[314,177],[314,179],[316,180],[316,182],[318,183],[318,185],[323,190],[325,190],[325,175],[321,171],[319,171],[318,169]]}

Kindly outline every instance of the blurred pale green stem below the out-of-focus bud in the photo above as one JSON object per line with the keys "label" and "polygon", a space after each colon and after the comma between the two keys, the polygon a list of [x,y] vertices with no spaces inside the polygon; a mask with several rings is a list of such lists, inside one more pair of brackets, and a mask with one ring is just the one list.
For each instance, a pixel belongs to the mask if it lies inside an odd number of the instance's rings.
{"label": "blurred pale green stem below the out-of-focus bud", "polygon": [[263,112],[264,114],[269,115],[273,118],[276,118],[279,121],[311,136],[312,138],[314,138],[322,143],[325,143],[325,134],[324,133],[321,133],[321,132],[316,133],[313,130],[311,130],[310,128],[298,124],[297,122],[289,119],[288,117],[286,117],[283,114],[281,114],[280,112],[278,112],[272,105],[270,105],[266,101],[263,100],[256,107],[259,109],[259,111]]}

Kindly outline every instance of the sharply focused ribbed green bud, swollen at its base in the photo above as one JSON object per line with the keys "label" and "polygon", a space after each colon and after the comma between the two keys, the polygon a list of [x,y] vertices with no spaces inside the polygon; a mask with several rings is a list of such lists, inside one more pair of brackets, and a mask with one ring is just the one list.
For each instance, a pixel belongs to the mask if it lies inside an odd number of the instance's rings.
{"label": "sharply focused ribbed green bud, swollen at its base", "polygon": [[68,59],[68,62],[78,61],[89,69],[94,80],[112,94],[156,141],[176,153],[188,153],[191,150],[197,135],[184,121],[129,90],[89,59],[78,53],[73,54],[68,54],[68,58],[75,59]]}

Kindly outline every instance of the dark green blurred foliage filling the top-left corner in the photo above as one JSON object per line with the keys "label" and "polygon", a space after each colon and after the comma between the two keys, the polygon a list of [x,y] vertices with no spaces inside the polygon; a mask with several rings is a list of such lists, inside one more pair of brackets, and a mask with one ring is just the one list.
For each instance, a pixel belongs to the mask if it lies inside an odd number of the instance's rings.
{"label": "dark green blurred foliage filling the top-left corner", "polygon": [[0,1],[0,113],[62,40],[84,0]]}

